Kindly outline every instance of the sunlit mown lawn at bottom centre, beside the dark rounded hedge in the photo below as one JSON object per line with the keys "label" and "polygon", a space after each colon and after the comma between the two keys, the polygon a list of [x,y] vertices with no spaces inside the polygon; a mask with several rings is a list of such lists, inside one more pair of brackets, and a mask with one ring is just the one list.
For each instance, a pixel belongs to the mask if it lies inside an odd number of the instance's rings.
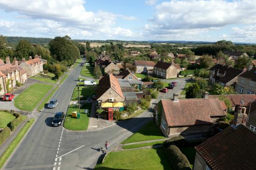
{"label": "sunlit mown lawn at bottom centre, beside the dark rounded hedge", "polygon": [[173,170],[162,148],[109,152],[94,170]]}

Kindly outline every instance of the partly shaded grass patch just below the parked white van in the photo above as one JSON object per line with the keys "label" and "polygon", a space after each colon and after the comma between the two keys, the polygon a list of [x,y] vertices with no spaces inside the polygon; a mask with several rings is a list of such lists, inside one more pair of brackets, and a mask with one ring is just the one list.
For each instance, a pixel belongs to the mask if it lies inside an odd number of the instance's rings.
{"label": "partly shaded grass patch just below the parked white van", "polygon": [[[79,95],[80,97],[91,97],[92,94],[96,93],[95,92],[96,86],[79,86]],[[78,87],[76,86],[74,88],[74,92],[71,98],[72,101],[77,101],[78,100]]]}

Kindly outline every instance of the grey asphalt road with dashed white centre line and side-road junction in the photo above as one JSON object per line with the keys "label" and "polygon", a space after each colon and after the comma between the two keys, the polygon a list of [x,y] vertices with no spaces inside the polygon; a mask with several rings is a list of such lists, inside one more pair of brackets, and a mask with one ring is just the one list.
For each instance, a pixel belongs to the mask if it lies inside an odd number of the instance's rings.
{"label": "grey asphalt road with dashed white centre line and side-road junction", "polygon": [[[5,170],[92,170],[104,155],[101,148],[104,149],[106,140],[111,150],[152,119],[152,113],[146,111],[139,118],[98,131],[74,132],[62,126],[52,127],[50,123],[54,113],[67,111],[80,71],[81,67],[76,67],[63,82],[53,96],[59,101],[58,107],[44,109],[40,113],[35,125],[7,162]],[[176,82],[175,89],[167,94],[160,93],[159,99],[153,101],[153,107],[160,99],[172,98],[172,93],[182,91],[186,81],[178,79]]]}

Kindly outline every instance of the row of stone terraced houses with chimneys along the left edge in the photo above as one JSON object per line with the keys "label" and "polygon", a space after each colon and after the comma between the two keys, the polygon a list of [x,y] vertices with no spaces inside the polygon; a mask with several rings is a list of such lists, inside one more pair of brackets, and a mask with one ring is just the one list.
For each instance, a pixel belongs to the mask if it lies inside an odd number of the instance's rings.
{"label": "row of stone terraced houses with chimneys along the left edge", "polygon": [[45,63],[47,61],[38,55],[35,55],[34,59],[29,57],[28,61],[25,58],[22,61],[17,61],[14,57],[12,63],[9,57],[6,57],[6,63],[0,59],[0,95],[12,91],[17,83],[27,82],[27,77],[43,72],[43,64]]}

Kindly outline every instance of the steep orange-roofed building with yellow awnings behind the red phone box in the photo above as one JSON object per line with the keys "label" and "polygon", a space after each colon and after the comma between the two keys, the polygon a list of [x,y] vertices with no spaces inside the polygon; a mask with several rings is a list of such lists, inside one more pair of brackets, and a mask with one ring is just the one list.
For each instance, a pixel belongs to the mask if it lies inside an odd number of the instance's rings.
{"label": "steep orange-roofed building with yellow awnings behind the red phone box", "polygon": [[96,92],[98,105],[102,109],[114,108],[119,110],[120,107],[124,106],[125,97],[121,91],[120,84],[111,73],[100,79]]}

